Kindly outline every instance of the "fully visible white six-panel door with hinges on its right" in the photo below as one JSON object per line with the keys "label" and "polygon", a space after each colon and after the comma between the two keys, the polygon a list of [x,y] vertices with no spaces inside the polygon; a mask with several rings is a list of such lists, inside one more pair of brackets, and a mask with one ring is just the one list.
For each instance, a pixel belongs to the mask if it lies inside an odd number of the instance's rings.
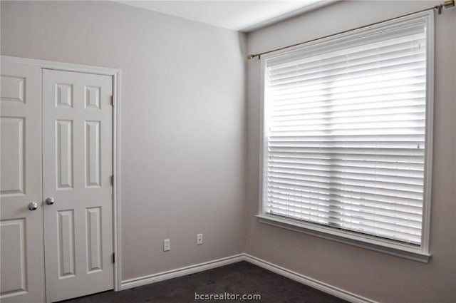
{"label": "fully visible white six-panel door with hinges on its right", "polygon": [[113,84],[43,69],[48,302],[113,289]]}

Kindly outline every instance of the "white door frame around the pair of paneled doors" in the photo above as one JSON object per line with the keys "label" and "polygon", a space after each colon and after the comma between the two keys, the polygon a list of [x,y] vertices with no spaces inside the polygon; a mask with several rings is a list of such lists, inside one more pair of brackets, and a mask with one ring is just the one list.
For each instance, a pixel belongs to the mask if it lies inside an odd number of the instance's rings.
{"label": "white door frame around the pair of paneled doors", "polygon": [[[122,250],[120,240],[120,68],[107,68],[90,66],[75,63],[64,63],[33,58],[22,58],[14,56],[1,56],[1,62],[23,63],[39,66],[43,69],[54,69],[58,71],[71,71],[76,73],[93,73],[97,75],[113,77],[113,251],[114,262],[114,290],[121,290],[122,277]],[[40,83],[43,83],[41,73]],[[43,103],[43,88],[40,85],[40,100]],[[40,113],[41,114],[41,113]],[[46,294],[46,289],[45,289]]]}

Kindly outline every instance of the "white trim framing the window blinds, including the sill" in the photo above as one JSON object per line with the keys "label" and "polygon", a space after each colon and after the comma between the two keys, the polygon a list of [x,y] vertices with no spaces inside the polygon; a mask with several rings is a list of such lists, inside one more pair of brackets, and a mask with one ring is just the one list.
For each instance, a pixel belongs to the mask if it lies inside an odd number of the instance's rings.
{"label": "white trim framing the window blinds, including the sill", "polygon": [[[318,41],[306,43],[304,45],[295,46],[281,51],[274,51],[273,53],[261,56],[261,80],[260,80],[260,146],[259,146],[259,212],[256,215],[261,223],[281,227],[286,230],[301,232],[306,235],[313,235],[327,240],[361,247],[375,252],[382,252],[388,255],[404,257],[409,260],[427,263],[430,260],[429,242],[430,242],[430,200],[431,200],[431,184],[432,184],[432,125],[433,125],[433,103],[434,103],[434,11],[425,11],[410,16],[405,16],[393,21],[386,21],[382,24],[369,26],[365,29],[358,29],[349,31],[344,34],[323,38]],[[279,56],[296,53],[309,46],[321,45],[327,46],[329,43],[335,43],[353,36],[364,36],[369,33],[380,31],[391,26],[397,26],[407,22],[424,21],[427,31],[426,43],[426,125],[425,125],[425,173],[423,183],[423,221],[422,221],[422,236],[421,245],[408,245],[406,243],[396,242],[394,240],[384,240],[378,237],[369,235],[362,235],[356,232],[338,230],[333,227],[326,227],[325,225],[317,225],[311,222],[299,222],[294,220],[282,219],[280,217],[268,216],[263,210],[263,197],[266,193],[264,186],[265,169],[267,168],[266,155],[267,141],[264,135],[264,88],[265,88],[265,69],[266,63],[269,59],[278,58]]]}

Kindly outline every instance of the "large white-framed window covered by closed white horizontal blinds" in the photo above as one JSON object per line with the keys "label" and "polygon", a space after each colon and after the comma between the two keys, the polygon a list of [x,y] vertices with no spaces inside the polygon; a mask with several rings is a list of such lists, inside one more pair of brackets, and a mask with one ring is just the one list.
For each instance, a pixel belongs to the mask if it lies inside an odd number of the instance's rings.
{"label": "large white-framed window covered by closed white horizontal blinds", "polygon": [[427,262],[432,18],[263,56],[261,222]]}

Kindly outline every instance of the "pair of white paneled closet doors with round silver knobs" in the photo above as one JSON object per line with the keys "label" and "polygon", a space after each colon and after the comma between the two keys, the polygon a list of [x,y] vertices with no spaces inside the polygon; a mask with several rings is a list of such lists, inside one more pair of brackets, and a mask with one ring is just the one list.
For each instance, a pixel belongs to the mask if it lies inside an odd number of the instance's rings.
{"label": "pair of white paneled closet doors with round silver knobs", "polygon": [[2,302],[115,288],[114,83],[2,62]]}

